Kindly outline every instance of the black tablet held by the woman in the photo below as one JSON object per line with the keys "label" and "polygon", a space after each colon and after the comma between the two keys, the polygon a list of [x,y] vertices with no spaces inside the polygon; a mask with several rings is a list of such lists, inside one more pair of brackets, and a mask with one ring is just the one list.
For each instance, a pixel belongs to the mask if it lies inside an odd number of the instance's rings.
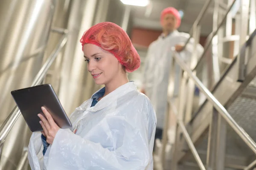
{"label": "black tablet held by the woman", "polygon": [[11,94],[32,132],[43,130],[39,123],[41,119],[38,117],[38,113],[44,116],[41,109],[42,106],[52,115],[52,118],[59,127],[63,129],[72,127],[52,85],[44,84],[23,88],[12,91]]}

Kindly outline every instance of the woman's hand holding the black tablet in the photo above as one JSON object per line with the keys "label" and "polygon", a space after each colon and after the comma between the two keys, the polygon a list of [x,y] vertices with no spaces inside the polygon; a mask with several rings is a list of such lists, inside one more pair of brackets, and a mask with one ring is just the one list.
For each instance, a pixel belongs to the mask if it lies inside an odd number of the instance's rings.
{"label": "woman's hand holding the black tablet", "polygon": [[52,144],[55,138],[55,135],[60,129],[60,127],[58,127],[58,125],[52,119],[52,116],[50,115],[50,113],[44,107],[42,107],[42,111],[46,116],[45,118],[40,113],[38,114],[38,117],[41,119],[40,124],[44,130],[42,134],[46,137],[46,142],[49,144]]}

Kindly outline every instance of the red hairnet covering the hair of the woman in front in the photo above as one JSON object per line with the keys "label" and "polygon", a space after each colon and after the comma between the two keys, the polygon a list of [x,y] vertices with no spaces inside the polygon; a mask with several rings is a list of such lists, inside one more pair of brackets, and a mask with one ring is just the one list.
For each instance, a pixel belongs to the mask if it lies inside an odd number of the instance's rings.
{"label": "red hairnet covering the hair of the woman in front", "polygon": [[140,67],[140,56],[131,43],[127,33],[111,22],[98,23],[84,32],[80,42],[94,44],[113,54],[131,73]]}

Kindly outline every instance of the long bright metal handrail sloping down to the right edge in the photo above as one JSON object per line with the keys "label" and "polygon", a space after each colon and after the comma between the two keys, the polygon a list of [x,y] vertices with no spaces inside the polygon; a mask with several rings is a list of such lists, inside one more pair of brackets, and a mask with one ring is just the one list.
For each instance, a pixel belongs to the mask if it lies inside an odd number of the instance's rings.
{"label": "long bright metal handrail sloping down to the right edge", "polygon": [[256,154],[256,143],[250,136],[236,123],[236,121],[230,116],[227,110],[223,105],[212,95],[212,93],[203,85],[203,83],[196,77],[192,71],[187,67],[186,63],[182,61],[179,57],[177,57],[177,52],[175,48],[172,47],[173,57],[175,61],[180,65],[180,67],[187,72],[189,77],[195,82],[200,91],[204,93],[209,102],[213,104],[216,110],[223,116],[223,118],[227,121],[227,123],[236,131],[236,133],[241,137],[241,139],[247,144],[248,147]]}

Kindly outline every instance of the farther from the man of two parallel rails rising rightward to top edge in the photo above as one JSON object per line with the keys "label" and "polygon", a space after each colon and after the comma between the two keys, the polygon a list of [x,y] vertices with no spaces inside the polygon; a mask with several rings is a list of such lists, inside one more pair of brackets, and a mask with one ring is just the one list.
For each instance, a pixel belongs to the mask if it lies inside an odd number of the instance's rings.
{"label": "farther from the man of two parallel rails rising rightward to top edge", "polygon": [[204,55],[206,54],[209,46],[211,45],[211,42],[212,42],[212,38],[217,34],[218,30],[221,28],[222,24],[224,23],[226,17],[227,17],[227,14],[229,13],[229,11],[231,10],[231,8],[233,7],[233,5],[236,3],[236,0],[233,1],[233,3],[230,5],[230,7],[228,8],[227,10],[227,13],[225,14],[224,18],[221,20],[221,23],[218,25],[218,28],[215,30],[215,31],[212,31],[210,33],[210,38],[209,40],[207,41],[206,45],[204,46],[204,52],[203,54],[201,55],[200,59],[198,60],[198,63],[197,65],[195,66],[195,68],[193,69],[193,71],[199,66],[200,62],[202,61],[202,59],[204,58]]}

